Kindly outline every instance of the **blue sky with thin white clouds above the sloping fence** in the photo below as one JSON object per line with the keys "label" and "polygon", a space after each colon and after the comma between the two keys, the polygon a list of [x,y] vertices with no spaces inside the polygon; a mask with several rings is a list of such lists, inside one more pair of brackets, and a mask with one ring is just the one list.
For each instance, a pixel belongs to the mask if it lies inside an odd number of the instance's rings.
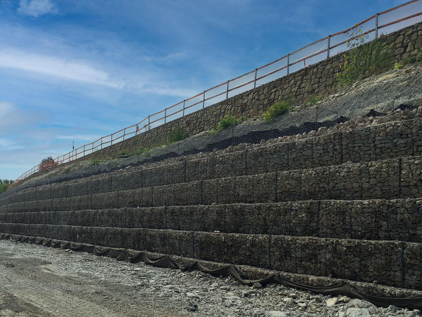
{"label": "blue sky with thin white clouds above the sloping fence", "polygon": [[401,3],[1,0],[0,178]]}

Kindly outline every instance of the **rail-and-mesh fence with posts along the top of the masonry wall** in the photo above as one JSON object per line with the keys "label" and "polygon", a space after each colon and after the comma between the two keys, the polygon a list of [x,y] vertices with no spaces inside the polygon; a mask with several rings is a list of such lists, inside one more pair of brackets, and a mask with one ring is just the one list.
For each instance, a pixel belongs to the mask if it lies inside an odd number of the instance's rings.
{"label": "rail-and-mesh fence with posts along the top of the masonry wall", "polygon": [[[422,0],[412,0],[383,12],[376,13],[347,30],[328,35],[289,53],[274,62],[268,63],[267,65],[261,66],[236,78],[224,81],[193,97],[151,114],[137,124],[72,150],[65,155],[55,158],[54,162],[63,164],[76,158],[81,158],[85,155],[94,153],[97,150],[104,149],[110,145],[123,141],[125,138],[127,139],[128,136],[132,137],[141,134],[142,132],[169,121],[256,88],[259,85],[287,76],[306,67],[306,65],[309,66],[340,54],[341,52],[345,52],[348,50],[347,42],[350,40],[348,32],[355,28],[360,28],[362,33],[367,34],[365,42],[369,42],[378,38],[380,34],[386,35],[421,21]],[[16,179],[13,184],[40,171],[42,169],[41,167],[41,164],[32,167]]]}

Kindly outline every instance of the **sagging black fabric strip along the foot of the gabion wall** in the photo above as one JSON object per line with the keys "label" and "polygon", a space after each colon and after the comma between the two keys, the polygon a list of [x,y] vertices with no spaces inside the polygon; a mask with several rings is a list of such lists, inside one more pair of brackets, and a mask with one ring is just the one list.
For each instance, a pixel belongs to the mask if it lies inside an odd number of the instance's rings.
{"label": "sagging black fabric strip along the foot of the gabion wall", "polygon": [[414,309],[422,310],[422,297],[399,298],[399,297],[375,296],[375,295],[371,295],[371,294],[356,290],[348,283],[338,283],[338,284],[333,284],[333,285],[328,285],[328,286],[311,286],[311,285],[295,283],[277,274],[272,274],[258,280],[247,280],[247,279],[243,279],[240,276],[239,272],[236,270],[236,268],[233,265],[222,266],[216,269],[209,269],[208,267],[198,263],[198,261],[193,261],[188,265],[183,265],[179,263],[178,261],[174,260],[169,255],[163,255],[157,258],[153,258],[147,252],[143,252],[143,251],[131,252],[133,253],[133,255],[131,255],[127,249],[96,246],[92,244],[56,240],[56,239],[51,239],[51,238],[39,238],[39,237],[28,237],[28,236],[22,236],[22,235],[0,234],[0,239],[10,240],[14,242],[19,241],[19,242],[26,242],[26,243],[35,243],[35,244],[41,244],[41,245],[51,246],[51,247],[56,247],[56,248],[60,247],[64,249],[71,249],[74,251],[83,251],[83,252],[93,253],[95,255],[113,257],[118,260],[128,261],[131,263],[145,262],[146,264],[149,264],[149,265],[153,265],[157,267],[180,269],[181,271],[201,270],[205,273],[209,273],[211,275],[216,275],[216,276],[231,275],[240,283],[249,285],[249,286],[252,286],[256,282],[261,283],[261,284],[278,283],[286,287],[292,287],[292,288],[296,288],[296,289],[304,290],[304,291],[311,291],[311,292],[321,294],[321,295],[349,296],[351,298],[357,298],[357,299],[371,302],[372,304],[381,306],[381,307],[388,307],[390,305],[393,305],[396,307],[408,308],[410,310],[414,310]]}

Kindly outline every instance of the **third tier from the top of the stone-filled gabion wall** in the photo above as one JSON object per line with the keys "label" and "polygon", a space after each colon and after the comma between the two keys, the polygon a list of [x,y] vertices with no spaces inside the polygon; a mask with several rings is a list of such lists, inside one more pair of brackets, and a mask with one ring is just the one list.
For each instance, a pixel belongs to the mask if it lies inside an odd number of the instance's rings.
{"label": "third tier from the top of the stone-filled gabion wall", "polygon": [[0,224],[150,228],[422,242],[422,200],[321,200],[0,214]]}

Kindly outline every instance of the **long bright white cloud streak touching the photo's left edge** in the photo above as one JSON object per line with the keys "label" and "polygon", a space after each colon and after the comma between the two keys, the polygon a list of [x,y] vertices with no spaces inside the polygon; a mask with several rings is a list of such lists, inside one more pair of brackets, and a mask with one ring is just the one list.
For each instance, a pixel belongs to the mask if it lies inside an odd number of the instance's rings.
{"label": "long bright white cloud streak touching the photo's left edge", "polygon": [[0,52],[0,67],[111,87],[122,86],[110,80],[108,73],[97,70],[83,62],[17,50],[3,49]]}

